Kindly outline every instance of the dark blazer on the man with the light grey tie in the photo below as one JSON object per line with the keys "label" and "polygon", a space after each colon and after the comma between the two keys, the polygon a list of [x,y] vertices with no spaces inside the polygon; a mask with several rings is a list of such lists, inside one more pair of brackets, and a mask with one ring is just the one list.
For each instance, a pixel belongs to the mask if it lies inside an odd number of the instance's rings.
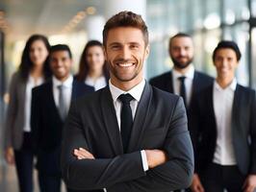
{"label": "dark blazer on the man with the light grey tie", "polygon": [[[71,100],[93,92],[93,87],[73,81]],[[41,172],[60,174],[60,156],[64,121],[55,105],[52,81],[33,89],[32,135]]]}

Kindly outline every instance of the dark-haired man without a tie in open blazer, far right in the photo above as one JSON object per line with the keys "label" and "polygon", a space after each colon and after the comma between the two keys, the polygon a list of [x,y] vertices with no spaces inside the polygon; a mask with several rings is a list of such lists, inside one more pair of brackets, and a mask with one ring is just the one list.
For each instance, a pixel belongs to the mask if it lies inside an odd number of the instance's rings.
{"label": "dark-haired man without a tie in open blazer, far right", "polygon": [[[256,186],[255,91],[237,84],[238,45],[220,41],[213,54],[216,81],[192,107],[193,192],[253,192]],[[196,139],[200,138],[200,139]]]}

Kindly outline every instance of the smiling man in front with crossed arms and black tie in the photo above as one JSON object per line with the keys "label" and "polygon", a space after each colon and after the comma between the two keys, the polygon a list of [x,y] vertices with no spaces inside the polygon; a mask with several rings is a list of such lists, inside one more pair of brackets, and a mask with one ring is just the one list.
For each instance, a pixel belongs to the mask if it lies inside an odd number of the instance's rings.
{"label": "smiling man in front with crossed arms and black tie", "polygon": [[68,187],[87,191],[164,192],[188,187],[193,152],[182,99],[147,84],[149,53],[141,16],[119,12],[103,30],[109,86],[70,108],[62,171]]}

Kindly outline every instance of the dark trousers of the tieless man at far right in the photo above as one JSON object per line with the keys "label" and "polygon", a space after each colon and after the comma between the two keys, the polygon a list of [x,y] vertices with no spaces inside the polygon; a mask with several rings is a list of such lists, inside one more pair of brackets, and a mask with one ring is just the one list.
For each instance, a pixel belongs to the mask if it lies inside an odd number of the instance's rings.
{"label": "dark trousers of the tieless man at far right", "polygon": [[245,176],[238,166],[222,166],[211,163],[206,170],[199,173],[205,192],[243,192]]}

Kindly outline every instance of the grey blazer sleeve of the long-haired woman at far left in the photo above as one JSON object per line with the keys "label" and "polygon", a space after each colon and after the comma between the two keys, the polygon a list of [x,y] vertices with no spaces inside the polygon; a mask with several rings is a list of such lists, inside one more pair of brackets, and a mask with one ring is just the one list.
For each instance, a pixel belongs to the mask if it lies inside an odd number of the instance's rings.
{"label": "grey blazer sleeve of the long-haired woman at far left", "polygon": [[10,102],[7,109],[7,117],[5,122],[5,148],[12,146],[12,134],[13,134],[13,124],[16,119],[17,113],[17,74],[13,74],[11,84],[10,84]]}

